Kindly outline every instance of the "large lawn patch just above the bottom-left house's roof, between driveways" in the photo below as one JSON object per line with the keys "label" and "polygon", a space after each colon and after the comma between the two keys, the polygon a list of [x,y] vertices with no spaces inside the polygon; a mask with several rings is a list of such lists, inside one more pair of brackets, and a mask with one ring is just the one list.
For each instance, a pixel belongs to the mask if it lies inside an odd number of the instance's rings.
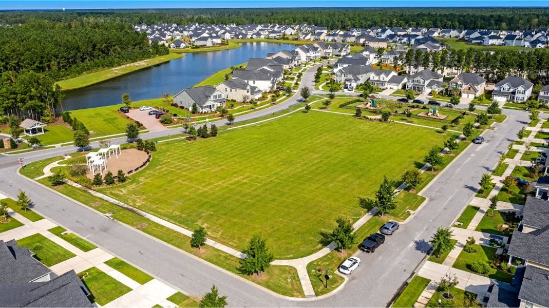
{"label": "large lawn patch just above the bottom-left house's roof, between driveways", "polygon": [[52,266],[76,256],[40,233],[21,238],[17,243],[21,247],[30,249],[36,254],[36,259],[46,266]]}

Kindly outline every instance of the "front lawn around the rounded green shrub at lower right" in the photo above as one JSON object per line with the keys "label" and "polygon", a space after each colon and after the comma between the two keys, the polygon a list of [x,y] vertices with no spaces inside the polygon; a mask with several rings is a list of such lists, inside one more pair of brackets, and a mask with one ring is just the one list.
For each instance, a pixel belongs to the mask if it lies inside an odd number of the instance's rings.
{"label": "front lawn around the rounded green shrub at lower right", "polygon": [[[460,255],[457,257],[456,262],[452,265],[453,268],[458,270],[475,273],[471,270],[470,265],[475,261],[484,261],[490,263],[494,259],[496,254],[496,249],[493,247],[481,246],[479,244],[474,244],[472,246],[476,251],[474,253],[468,253],[466,250],[462,250]],[[492,279],[497,279],[503,282],[511,282],[512,275],[495,268],[490,268],[488,275],[482,275],[475,273],[480,276],[487,276]]]}

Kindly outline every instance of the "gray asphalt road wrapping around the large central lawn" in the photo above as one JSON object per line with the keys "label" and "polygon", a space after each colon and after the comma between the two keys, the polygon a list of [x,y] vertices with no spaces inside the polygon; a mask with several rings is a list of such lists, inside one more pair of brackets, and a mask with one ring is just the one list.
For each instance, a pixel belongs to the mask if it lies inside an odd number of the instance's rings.
{"label": "gray asphalt road wrapping around the large central lawn", "polygon": [[[304,85],[312,88],[313,74],[314,68],[304,75]],[[237,120],[249,120],[289,108],[298,103],[298,98],[299,94],[273,107],[237,117]],[[0,192],[15,198],[19,189],[25,190],[35,202],[37,211],[44,216],[198,297],[215,284],[221,294],[228,295],[230,306],[385,306],[427,253],[431,234],[437,227],[451,224],[473,198],[481,175],[493,169],[501,153],[506,152],[508,138],[514,138],[528,121],[528,115],[521,111],[504,110],[504,113],[508,119],[497,124],[496,130],[486,131],[485,143],[470,145],[425,189],[422,195],[429,201],[410,222],[402,225],[375,254],[360,254],[363,265],[349,276],[345,288],[317,301],[288,301],[272,295],[242,278],[65,199],[19,176],[16,173],[19,156],[0,156]],[[167,135],[167,132],[159,133]],[[160,136],[163,135],[143,135],[144,138]],[[56,148],[21,156],[29,162],[74,150]]]}

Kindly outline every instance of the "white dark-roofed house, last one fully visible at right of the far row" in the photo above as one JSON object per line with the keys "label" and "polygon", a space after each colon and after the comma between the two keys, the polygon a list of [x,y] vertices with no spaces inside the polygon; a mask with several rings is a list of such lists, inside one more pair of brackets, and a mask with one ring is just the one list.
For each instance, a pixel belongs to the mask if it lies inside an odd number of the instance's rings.
{"label": "white dark-roofed house, last one fully visible at right of the far row", "polygon": [[532,94],[534,83],[519,76],[509,76],[496,83],[492,99],[496,102],[526,102]]}

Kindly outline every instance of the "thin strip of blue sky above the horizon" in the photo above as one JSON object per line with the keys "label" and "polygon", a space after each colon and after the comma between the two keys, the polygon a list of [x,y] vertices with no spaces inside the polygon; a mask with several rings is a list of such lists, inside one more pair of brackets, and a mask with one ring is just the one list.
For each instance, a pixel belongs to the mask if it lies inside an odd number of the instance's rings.
{"label": "thin strip of blue sky above the horizon", "polygon": [[0,0],[0,9],[122,9],[122,8],[264,8],[264,7],[549,7],[549,0],[507,1],[507,0],[61,0],[36,1]]}

